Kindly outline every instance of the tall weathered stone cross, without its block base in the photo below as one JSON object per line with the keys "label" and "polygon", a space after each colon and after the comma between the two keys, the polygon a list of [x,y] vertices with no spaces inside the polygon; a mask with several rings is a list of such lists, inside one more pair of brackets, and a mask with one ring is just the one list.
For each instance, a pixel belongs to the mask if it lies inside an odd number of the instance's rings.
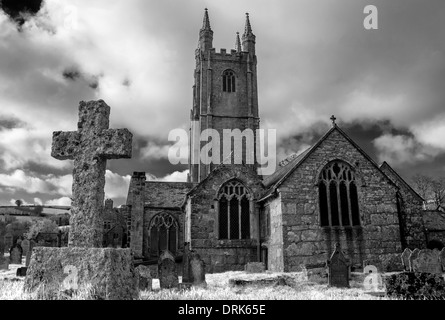
{"label": "tall weathered stone cross, without its block base", "polygon": [[81,101],[77,131],[53,132],[51,156],[74,160],[69,246],[102,247],[107,159],[131,158],[133,135],[109,117],[104,101]]}

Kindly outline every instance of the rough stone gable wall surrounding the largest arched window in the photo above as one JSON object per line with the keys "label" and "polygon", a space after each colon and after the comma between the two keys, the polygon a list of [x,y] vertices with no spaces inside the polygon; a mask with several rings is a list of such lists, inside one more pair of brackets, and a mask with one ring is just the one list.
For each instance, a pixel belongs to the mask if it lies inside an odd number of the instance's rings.
{"label": "rough stone gable wall surrounding the largest arched window", "polygon": [[[320,226],[318,176],[336,159],[355,171],[360,227]],[[396,187],[337,130],[286,179],[279,192],[284,271],[299,270],[301,264],[323,265],[336,242],[356,266],[365,259],[401,252]]]}

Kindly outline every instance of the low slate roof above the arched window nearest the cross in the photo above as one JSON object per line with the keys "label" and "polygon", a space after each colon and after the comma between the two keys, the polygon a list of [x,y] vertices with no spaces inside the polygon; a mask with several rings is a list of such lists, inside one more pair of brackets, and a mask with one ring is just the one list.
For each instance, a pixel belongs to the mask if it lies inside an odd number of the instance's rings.
{"label": "low slate roof above the arched window nearest the cross", "polygon": [[179,208],[187,192],[196,184],[190,182],[145,182],[145,206],[154,208]]}

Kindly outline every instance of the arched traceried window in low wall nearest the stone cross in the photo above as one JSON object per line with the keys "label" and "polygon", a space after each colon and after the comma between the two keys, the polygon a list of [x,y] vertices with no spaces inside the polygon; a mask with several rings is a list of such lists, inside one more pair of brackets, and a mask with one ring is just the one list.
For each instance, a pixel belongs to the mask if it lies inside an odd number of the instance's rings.
{"label": "arched traceried window in low wall nearest the stone cross", "polygon": [[164,250],[175,254],[178,249],[178,222],[166,212],[155,215],[149,225],[150,256],[159,257]]}

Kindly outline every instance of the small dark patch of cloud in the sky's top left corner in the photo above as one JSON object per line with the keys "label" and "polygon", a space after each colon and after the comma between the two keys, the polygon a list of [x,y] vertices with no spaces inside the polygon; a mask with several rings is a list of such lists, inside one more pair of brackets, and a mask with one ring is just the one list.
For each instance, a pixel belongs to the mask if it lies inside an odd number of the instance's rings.
{"label": "small dark patch of cloud in the sky's top left corner", "polygon": [[0,0],[0,8],[19,26],[39,12],[42,0]]}

